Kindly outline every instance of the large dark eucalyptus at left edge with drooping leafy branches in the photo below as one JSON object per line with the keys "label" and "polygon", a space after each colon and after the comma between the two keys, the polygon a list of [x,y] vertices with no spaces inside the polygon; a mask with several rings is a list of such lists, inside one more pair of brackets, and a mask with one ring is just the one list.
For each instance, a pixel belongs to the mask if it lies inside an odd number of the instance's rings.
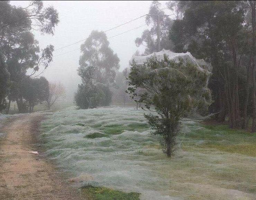
{"label": "large dark eucalyptus at left edge with drooping leafy branches", "polygon": [[[0,54],[1,64],[6,66],[9,76],[8,82],[1,82],[0,88],[7,88],[1,93],[0,103],[6,96],[10,101],[17,101],[20,112],[23,99],[19,91],[21,83],[27,78],[26,73],[31,69],[30,77],[39,76],[52,61],[52,45],[41,50],[31,30],[39,30],[42,34],[53,34],[59,22],[58,13],[53,7],[45,8],[42,1],[30,1],[26,8],[12,6],[9,1],[0,2]],[[40,67],[43,71],[36,74]],[[4,69],[1,69],[4,71]],[[4,80],[4,79],[2,79]],[[9,108],[8,108],[9,109]],[[8,110],[7,109],[7,110]]]}

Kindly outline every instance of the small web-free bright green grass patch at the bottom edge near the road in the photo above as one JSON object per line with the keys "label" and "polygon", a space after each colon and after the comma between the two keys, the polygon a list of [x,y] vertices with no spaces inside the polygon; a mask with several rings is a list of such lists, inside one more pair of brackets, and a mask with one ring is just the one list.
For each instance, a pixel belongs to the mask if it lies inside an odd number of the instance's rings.
{"label": "small web-free bright green grass patch at the bottom edge near the road", "polygon": [[81,194],[90,200],[139,200],[139,193],[121,192],[105,187],[86,186],[81,188]]}

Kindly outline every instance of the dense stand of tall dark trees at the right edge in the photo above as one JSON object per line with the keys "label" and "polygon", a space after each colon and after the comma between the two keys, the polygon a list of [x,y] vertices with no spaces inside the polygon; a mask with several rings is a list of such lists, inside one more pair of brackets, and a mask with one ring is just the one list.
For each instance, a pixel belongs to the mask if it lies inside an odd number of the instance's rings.
{"label": "dense stand of tall dark trees at the right edge", "polygon": [[170,38],[175,51],[211,62],[211,111],[219,121],[228,116],[232,128],[247,128],[251,119],[254,132],[255,1],[179,1],[177,8],[183,18],[174,21]]}

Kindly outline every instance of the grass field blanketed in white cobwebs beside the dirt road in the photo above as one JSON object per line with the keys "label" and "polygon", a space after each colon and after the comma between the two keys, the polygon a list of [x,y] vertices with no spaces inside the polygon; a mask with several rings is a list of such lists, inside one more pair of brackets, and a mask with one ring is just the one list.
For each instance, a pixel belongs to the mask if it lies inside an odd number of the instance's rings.
{"label": "grass field blanketed in white cobwebs beside the dirt road", "polygon": [[92,199],[256,199],[256,134],[182,124],[171,159],[134,108],[66,108],[42,123],[41,136]]}

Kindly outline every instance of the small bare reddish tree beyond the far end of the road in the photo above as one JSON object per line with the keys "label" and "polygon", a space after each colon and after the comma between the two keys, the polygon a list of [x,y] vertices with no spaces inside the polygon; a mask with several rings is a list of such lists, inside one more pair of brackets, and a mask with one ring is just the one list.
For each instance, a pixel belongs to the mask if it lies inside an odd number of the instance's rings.
{"label": "small bare reddish tree beyond the far end of the road", "polygon": [[46,100],[46,106],[51,109],[52,105],[58,101],[61,97],[65,96],[65,87],[61,83],[50,83],[49,84],[49,96]]}

